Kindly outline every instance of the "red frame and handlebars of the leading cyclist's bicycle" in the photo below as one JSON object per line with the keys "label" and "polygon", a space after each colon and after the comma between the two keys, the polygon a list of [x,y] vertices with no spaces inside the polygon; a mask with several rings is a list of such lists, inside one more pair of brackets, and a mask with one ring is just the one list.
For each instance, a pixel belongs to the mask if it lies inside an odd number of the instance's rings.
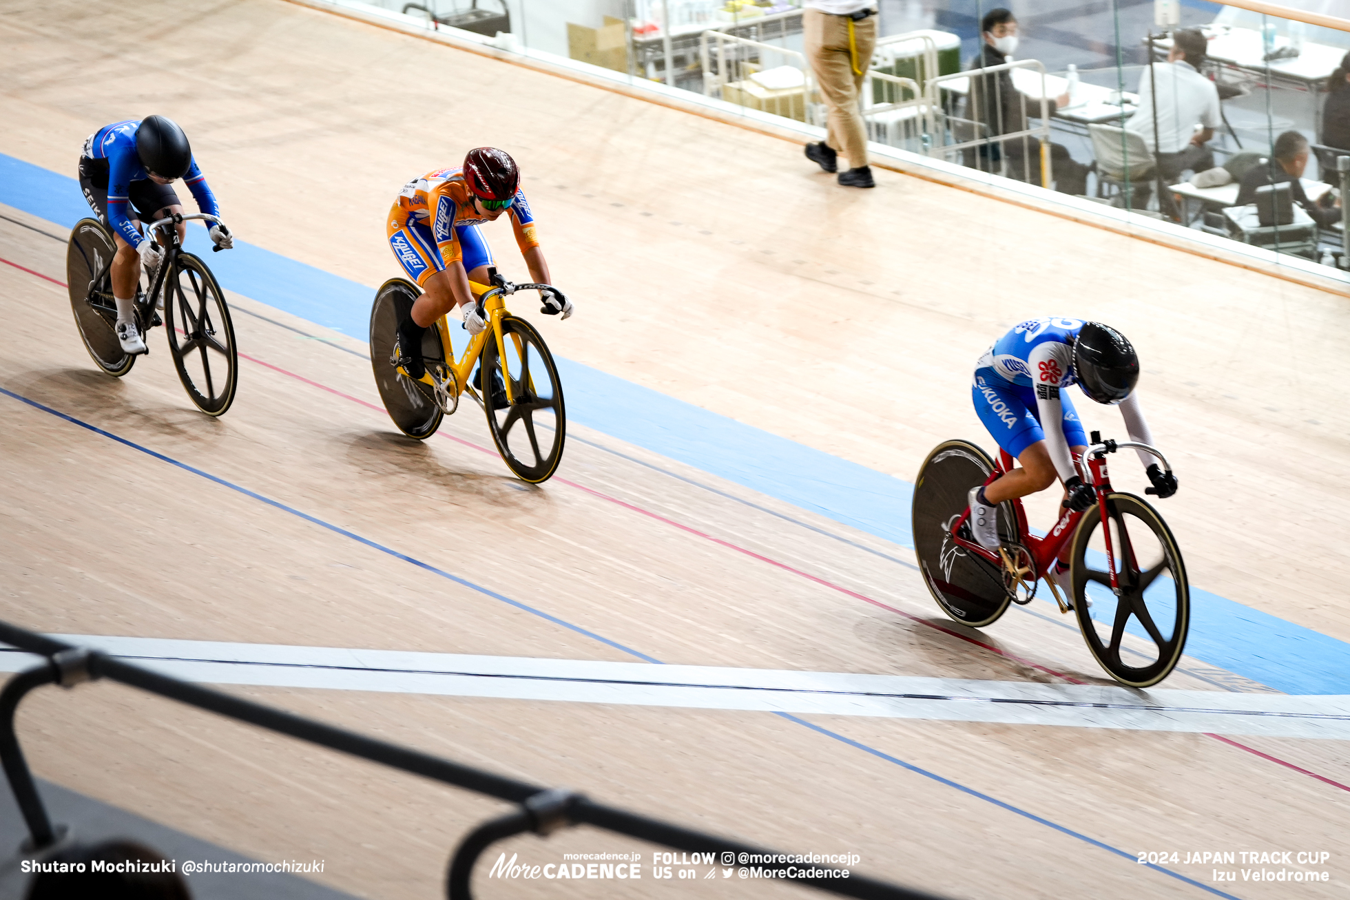
{"label": "red frame and handlebars of the leading cyclist's bicycle", "polygon": [[[1114,453],[1118,449],[1135,448],[1146,453],[1157,456],[1165,470],[1172,471],[1168,466],[1166,459],[1153,447],[1148,444],[1138,444],[1134,441],[1099,441],[1096,432],[1092,433],[1092,445],[1084,451],[1083,456],[1076,456],[1073,459],[1075,468],[1077,468],[1080,476],[1084,478],[1087,484],[1091,484],[1096,493],[1096,513],[1102,517],[1102,538],[1106,542],[1106,557],[1107,557],[1107,571],[1111,573],[1111,591],[1119,594],[1119,583],[1115,565],[1115,546],[1111,540],[1111,528],[1108,524],[1106,498],[1111,493],[1111,480],[1107,472],[1106,455]],[[1087,471],[1084,471],[1084,461],[1087,463]],[[1013,470],[1013,456],[1006,449],[999,449],[998,463],[994,466],[994,471],[987,479],[984,479],[984,486],[992,484],[998,478],[1010,472]],[[1049,578],[1053,571],[1054,561],[1064,552],[1065,545],[1077,532],[1079,524],[1083,517],[1092,513],[1094,509],[1089,507],[1083,513],[1077,513],[1068,507],[1061,507],[1062,514],[1060,519],[1054,524],[1045,537],[1037,537],[1031,534],[1027,526],[1026,509],[1022,506],[1021,498],[1013,499],[1013,511],[1017,524],[1018,544],[1026,549],[1030,565],[1022,565],[1021,561],[1014,561],[1008,557],[1007,548],[1000,546],[998,552],[986,549],[983,545],[968,541],[957,534],[961,525],[969,518],[971,510],[965,510],[956,522],[952,524],[950,536],[952,540],[961,546],[968,553],[975,553],[994,565],[1000,567],[1004,571],[1011,571],[1013,575],[1022,582],[1030,580],[1031,584],[1035,583],[1038,578],[1044,578],[1045,583],[1050,586],[1050,592],[1054,595],[1056,602],[1060,604],[1060,611],[1066,613],[1069,606],[1065,603],[1064,598],[1060,596],[1060,588],[1054,583],[1054,579]],[[1118,528],[1125,528],[1123,522],[1118,522]],[[1133,544],[1129,541],[1126,534],[1122,538],[1122,544],[1126,546],[1127,552],[1133,553]],[[1131,565],[1135,565],[1135,560],[1127,560]]]}

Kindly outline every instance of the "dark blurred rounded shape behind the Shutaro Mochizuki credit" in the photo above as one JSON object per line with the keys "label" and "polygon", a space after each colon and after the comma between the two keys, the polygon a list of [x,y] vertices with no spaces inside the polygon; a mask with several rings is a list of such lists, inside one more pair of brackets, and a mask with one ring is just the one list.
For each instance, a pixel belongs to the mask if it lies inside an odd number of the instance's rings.
{"label": "dark blurred rounded shape behind the Shutaro Mochizuki credit", "polygon": [[173,861],[131,841],[77,843],[38,864],[27,900],[192,900]]}

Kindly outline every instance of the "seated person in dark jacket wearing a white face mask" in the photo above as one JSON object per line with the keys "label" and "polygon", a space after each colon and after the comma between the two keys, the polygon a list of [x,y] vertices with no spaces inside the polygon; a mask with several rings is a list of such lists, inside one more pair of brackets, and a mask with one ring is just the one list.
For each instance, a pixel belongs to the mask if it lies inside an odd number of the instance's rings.
{"label": "seated person in dark jacket wearing a white face mask", "polygon": [[[1007,9],[991,9],[980,20],[984,46],[980,55],[971,61],[971,69],[986,69],[1013,62],[1013,53],[1019,40],[1017,19]],[[1054,115],[1056,108],[1066,107],[1069,94],[1062,93],[1046,101],[1046,115]],[[1027,109],[1041,111],[1040,97],[1022,93],[1013,85],[1011,72],[996,72],[971,77],[971,92],[965,99],[965,119],[983,125],[975,138],[998,138],[1027,130]],[[1008,178],[1041,184],[1041,142],[1035,138],[1010,138],[992,140],[965,152],[965,165],[994,174],[1002,174],[1003,159],[1007,159]],[[1050,173],[1054,189],[1066,194],[1087,193],[1088,171],[1085,166],[1069,155],[1061,144],[1050,144]]]}

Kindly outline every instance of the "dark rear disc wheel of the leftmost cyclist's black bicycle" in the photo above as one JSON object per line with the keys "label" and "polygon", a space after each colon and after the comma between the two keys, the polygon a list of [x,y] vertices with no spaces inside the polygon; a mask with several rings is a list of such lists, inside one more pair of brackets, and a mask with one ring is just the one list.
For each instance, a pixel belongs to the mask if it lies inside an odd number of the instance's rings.
{"label": "dark rear disc wheel of the leftmost cyclist's black bicycle", "polygon": [[[109,375],[123,376],[136,364],[136,358],[122,352],[117,340],[117,306],[105,267],[117,252],[112,232],[97,219],[81,219],[70,229],[66,246],[66,285],[70,309],[76,316],[80,339],[94,364]],[[94,279],[103,273],[103,279]]]}

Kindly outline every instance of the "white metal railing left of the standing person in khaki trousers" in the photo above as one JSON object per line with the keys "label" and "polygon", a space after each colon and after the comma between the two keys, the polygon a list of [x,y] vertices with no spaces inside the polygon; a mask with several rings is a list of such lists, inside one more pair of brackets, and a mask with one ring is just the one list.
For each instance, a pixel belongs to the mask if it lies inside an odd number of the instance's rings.
{"label": "white metal railing left of the standing person in khaki trousers", "polygon": [[[801,53],[724,31],[705,31],[699,36],[698,51],[706,96],[775,116],[822,124],[817,121],[819,115],[815,112],[811,69]],[[784,66],[801,73],[799,82],[794,78],[791,85],[774,88],[753,78],[759,73]]]}

